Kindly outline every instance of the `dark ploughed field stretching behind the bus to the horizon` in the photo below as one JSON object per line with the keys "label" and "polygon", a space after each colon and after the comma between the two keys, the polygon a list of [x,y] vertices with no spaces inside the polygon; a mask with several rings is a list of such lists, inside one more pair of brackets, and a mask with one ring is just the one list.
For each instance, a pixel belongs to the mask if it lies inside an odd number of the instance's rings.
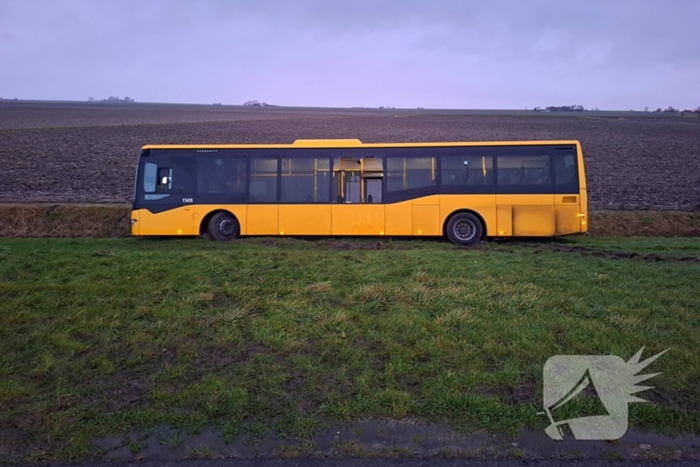
{"label": "dark ploughed field stretching behind the bus to the horizon", "polygon": [[578,139],[592,210],[700,211],[700,119],[596,115],[2,103],[0,202],[128,202],[144,144]]}

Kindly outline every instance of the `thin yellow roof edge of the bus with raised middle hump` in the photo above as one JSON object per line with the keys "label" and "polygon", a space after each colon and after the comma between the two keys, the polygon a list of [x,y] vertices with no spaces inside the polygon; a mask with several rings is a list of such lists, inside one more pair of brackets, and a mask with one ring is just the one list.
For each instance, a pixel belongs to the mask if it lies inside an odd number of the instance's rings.
{"label": "thin yellow roof edge of the bus with raised middle hump", "polygon": [[464,141],[421,143],[369,143],[359,139],[298,139],[292,144],[147,144],[141,149],[284,149],[284,148],[406,148],[450,146],[550,146],[580,145],[576,140]]}

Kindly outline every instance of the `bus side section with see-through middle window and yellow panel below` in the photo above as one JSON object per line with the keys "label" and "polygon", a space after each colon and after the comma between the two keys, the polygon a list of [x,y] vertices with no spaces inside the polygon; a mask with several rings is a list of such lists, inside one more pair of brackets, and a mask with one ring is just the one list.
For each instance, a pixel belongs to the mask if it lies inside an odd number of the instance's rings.
{"label": "bus side section with see-through middle window and yellow panel below", "polygon": [[336,157],[333,161],[333,235],[384,235],[382,159]]}

